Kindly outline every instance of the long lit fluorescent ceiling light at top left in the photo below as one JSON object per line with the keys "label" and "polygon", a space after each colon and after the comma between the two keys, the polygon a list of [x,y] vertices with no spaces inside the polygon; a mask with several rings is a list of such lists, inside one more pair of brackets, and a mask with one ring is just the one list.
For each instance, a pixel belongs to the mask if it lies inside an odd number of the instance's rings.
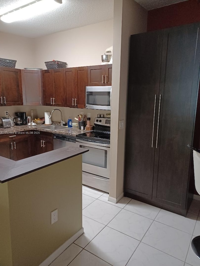
{"label": "long lit fluorescent ceiling light at top left", "polygon": [[36,0],[1,15],[0,19],[7,23],[24,20],[51,11],[60,4],[62,0]]}

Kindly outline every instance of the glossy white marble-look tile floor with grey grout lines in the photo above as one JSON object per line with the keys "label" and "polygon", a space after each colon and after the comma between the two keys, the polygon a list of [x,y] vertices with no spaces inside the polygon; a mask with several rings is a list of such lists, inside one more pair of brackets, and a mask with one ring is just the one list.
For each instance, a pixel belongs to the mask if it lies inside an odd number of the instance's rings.
{"label": "glossy white marble-look tile floor with grey grout lines", "polygon": [[83,186],[81,235],[50,266],[199,266],[191,240],[200,235],[200,201],[187,217]]}

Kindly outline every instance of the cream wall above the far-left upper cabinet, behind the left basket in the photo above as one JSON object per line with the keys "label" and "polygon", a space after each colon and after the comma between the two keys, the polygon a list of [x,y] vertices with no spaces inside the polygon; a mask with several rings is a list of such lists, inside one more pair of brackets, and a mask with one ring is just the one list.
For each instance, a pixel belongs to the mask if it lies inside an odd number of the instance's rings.
{"label": "cream wall above the far-left upper cabinet, behind the left basket", "polygon": [[19,69],[35,67],[33,39],[0,31],[0,57],[17,60]]}

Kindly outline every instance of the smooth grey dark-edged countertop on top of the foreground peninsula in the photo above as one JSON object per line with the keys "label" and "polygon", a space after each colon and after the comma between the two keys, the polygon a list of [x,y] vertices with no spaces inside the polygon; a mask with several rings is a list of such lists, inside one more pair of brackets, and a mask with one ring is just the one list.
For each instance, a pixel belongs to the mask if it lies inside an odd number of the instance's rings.
{"label": "smooth grey dark-edged countertop on top of the foreground peninsula", "polygon": [[64,147],[19,161],[13,161],[0,156],[0,183],[5,183],[88,151],[78,147]]}

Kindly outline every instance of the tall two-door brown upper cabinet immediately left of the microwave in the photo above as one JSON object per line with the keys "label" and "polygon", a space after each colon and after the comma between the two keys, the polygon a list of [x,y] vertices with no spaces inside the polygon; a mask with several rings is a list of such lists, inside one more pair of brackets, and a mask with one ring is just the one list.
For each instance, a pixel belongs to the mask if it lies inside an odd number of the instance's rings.
{"label": "tall two-door brown upper cabinet immediately left of the microwave", "polygon": [[88,81],[87,70],[87,66],[63,69],[67,107],[85,108],[85,87]]}

